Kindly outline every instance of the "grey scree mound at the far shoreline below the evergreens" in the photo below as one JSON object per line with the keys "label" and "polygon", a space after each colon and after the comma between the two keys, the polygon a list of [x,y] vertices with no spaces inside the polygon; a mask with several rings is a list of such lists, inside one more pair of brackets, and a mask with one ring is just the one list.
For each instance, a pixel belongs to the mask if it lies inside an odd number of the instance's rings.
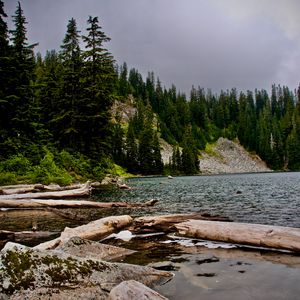
{"label": "grey scree mound at the far shoreline below the evergreens", "polygon": [[202,153],[200,170],[204,174],[271,171],[257,155],[250,155],[241,145],[224,138],[217,141],[213,153]]}

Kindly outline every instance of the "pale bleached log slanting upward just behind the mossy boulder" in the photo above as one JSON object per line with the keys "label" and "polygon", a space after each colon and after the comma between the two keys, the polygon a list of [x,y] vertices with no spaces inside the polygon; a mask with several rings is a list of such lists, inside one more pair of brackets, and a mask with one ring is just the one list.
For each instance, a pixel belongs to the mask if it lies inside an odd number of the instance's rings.
{"label": "pale bleached log slanting upward just behind the mossy boulder", "polygon": [[131,223],[132,218],[128,215],[124,215],[102,218],[76,228],[66,227],[60,237],[46,243],[39,244],[34,248],[39,250],[53,249],[74,236],[88,240],[100,240],[121,228],[129,226]]}

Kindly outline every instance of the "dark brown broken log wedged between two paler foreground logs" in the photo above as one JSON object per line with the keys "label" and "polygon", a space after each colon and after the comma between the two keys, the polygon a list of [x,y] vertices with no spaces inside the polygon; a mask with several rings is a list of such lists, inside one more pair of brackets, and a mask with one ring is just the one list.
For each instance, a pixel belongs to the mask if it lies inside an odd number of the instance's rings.
{"label": "dark brown broken log wedged between two paler foreground logs", "polygon": [[226,217],[211,216],[208,214],[192,213],[192,214],[172,214],[162,216],[146,216],[134,219],[134,232],[155,232],[176,231],[175,224],[182,223],[187,220],[212,220],[212,221],[230,221]]}

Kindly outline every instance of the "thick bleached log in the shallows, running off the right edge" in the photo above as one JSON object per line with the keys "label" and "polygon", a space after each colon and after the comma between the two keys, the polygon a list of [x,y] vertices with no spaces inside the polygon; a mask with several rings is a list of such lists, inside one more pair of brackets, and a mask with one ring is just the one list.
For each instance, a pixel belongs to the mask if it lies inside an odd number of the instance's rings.
{"label": "thick bleached log in the shallows, running off the right edge", "polygon": [[300,252],[299,228],[201,220],[189,220],[175,227],[183,236]]}

